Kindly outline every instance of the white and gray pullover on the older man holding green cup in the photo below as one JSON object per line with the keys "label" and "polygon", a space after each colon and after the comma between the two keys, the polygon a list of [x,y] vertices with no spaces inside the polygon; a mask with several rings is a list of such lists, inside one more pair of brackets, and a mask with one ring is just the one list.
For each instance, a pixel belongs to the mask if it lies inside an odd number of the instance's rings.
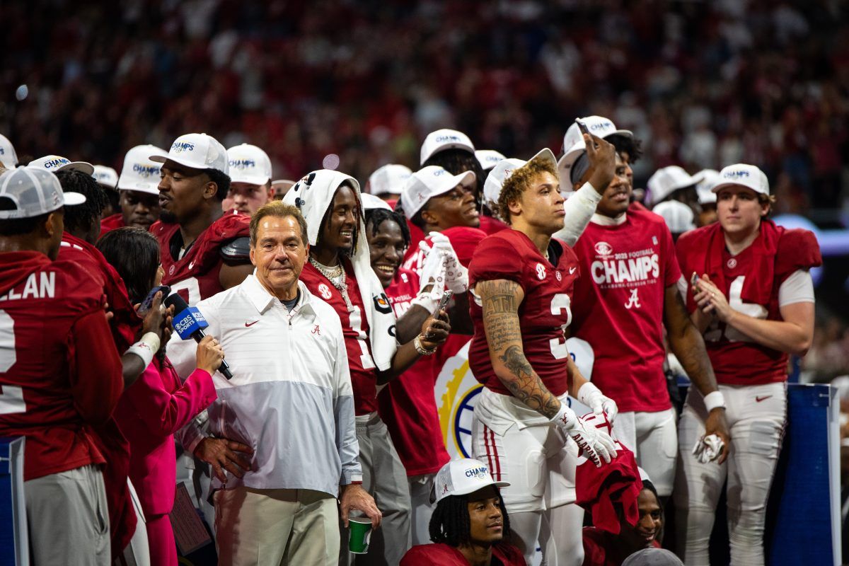
{"label": "white and gray pullover on the older man holding green cup", "polygon": [[[250,471],[228,476],[228,488],[338,496],[340,485],[363,480],[339,315],[300,281],[298,289],[291,312],[254,275],[197,305],[233,372],[229,381],[213,376],[218,399],[208,408],[209,432],[254,449]],[[176,333],[168,343],[183,378],[194,371],[196,349]],[[183,429],[183,445],[194,450],[205,435],[193,422]],[[211,487],[222,485],[213,477]]]}

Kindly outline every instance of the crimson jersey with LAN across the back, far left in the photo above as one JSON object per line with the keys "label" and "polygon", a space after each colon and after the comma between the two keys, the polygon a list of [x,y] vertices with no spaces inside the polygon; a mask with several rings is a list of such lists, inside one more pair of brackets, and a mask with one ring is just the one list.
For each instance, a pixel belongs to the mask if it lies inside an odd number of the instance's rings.
{"label": "crimson jersey with LAN across the back, far left", "polygon": [[0,436],[26,436],[25,480],[105,462],[87,425],[124,380],[103,297],[73,261],[0,254]]}

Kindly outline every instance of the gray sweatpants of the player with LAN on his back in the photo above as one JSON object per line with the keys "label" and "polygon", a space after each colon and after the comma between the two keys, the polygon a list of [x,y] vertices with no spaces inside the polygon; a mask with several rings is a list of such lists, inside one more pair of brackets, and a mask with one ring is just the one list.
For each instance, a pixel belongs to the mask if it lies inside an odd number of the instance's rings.
{"label": "gray sweatpants of the player with LAN on his back", "polygon": [[98,466],[24,482],[32,563],[108,566],[109,510]]}

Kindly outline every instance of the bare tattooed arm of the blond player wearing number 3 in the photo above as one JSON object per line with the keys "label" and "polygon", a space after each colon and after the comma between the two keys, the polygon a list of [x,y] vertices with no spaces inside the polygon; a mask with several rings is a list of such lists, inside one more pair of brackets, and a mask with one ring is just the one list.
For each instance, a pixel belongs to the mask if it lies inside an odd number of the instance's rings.
{"label": "bare tattooed arm of the blond player wearing number 3", "polygon": [[501,383],[534,411],[554,418],[560,401],[543,385],[522,349],[519,305],[525,292],[519,283],[496,279],[479,281],[475,294],[481,297],[489,359]]}

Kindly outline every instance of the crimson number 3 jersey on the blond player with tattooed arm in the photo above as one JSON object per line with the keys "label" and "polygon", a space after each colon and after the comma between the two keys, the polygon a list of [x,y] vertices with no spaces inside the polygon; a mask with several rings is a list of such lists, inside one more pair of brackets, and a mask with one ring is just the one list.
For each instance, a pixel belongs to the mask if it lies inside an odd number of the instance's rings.
{"label": "crimson number 3 jersey on the blond player with tattooed arm", "polygon": [[[540,254],[537,247],[518,230],[502,230],[485,238],[475,249],[469,265],[469,289],[479,281],[508,279],[519,283],[525,300],[519,306],[522,347],[531,367],[554,395],[569,388],[566,376],[564,331],[572,318],[571,295],[581,270],[569,246],[552,239],[549,257],[556,255],[556,266]],[[469,309],[475,335],[469,346],[469,367],[475,378],[492,391],[511,395],[492,369],[489,346],[483,328],[481,300],[475,294]]]}

